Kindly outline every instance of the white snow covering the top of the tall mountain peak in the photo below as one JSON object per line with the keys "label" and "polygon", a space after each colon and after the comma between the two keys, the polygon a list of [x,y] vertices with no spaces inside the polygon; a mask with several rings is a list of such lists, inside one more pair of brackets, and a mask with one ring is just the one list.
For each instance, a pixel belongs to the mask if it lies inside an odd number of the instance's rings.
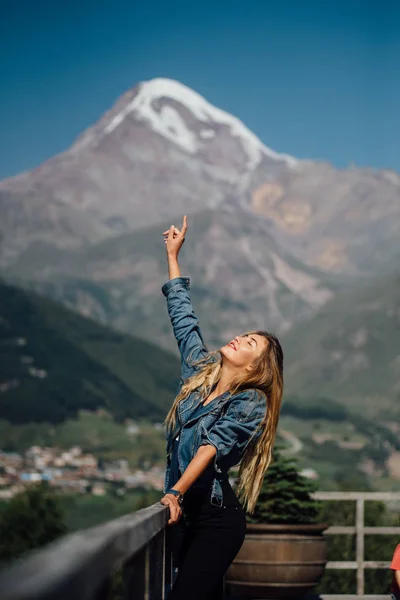
{"label": "white snow covering the top of the tall mountain peak", "polygon": [[[190,130],[179,112],[172,106],[164,105],[160,110],[153,108],[153,102],[160,98],[169,98],[183,105],[186,110],[203,122],[206,126],[199,136]],[[230,128],[231,134],[237,137],[248,156],[247,167],[254,169],[263,155],[275,160],[283,160],[289,167],[296,167],[298,161],[287,154],[279,154],[265,146],[239,119],[216,108],[205,98],[178,81],[157,78],[139,84],[135,98],[115,115],[104,129],[111,133],[130,113],[149,123],[153,131],[170,139],[186,152],[195,153],[204,140],[213,137],[213,130],[207,124],[220,124]]]}

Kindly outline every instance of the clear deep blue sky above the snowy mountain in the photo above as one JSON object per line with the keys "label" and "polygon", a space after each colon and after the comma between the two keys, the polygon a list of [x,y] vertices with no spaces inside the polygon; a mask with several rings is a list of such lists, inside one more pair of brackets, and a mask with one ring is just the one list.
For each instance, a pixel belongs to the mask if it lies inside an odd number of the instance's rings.
{"label": "clear deep blue sky above the snowy mountain", "polygon": [[3,0],[0,177],[171,77],[299,158],[400,170],[397,0]]}

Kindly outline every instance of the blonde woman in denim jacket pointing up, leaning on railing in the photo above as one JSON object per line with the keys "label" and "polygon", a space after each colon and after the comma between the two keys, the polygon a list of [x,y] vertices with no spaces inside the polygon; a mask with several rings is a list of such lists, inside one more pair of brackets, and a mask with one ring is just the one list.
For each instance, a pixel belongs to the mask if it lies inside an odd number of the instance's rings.
{"label": "blonde woman in denim jacket pointing up, leaning on railing", "polygon": [[[162,292],[181,355],[178,395],[165,420],[161,503],[170,509],[178,564],[168,600],[219,600],[223,576],[244,541],[245,509],[253,512],[271,460],[283,353],[276,337],[265,331],[207,350],[190,300],[190,280],[178,265],[186,231],[184,216],[181,230],[171,225],[163,233],[169,281]],[[239,463],[238,498],[228,470]]]}

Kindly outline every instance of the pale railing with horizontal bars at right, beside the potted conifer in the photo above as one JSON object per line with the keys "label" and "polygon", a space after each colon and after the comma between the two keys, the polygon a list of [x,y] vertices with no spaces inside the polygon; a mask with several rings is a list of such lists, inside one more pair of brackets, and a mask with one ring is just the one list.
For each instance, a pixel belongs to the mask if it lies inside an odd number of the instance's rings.
{"label": "pale railing with horizontal bars at right, beside the potted conifer", "polygon": [[[400,527],[365,527],[364,509],[366,501],[382,501],[400,503],[400,492],[316,492],[313,494],[316,500],[351,500],[356,503],[356,519],[352,526],[332,526],[326,531],[326,535],[355,535],[356,536],[356,560],[355,561],[328,561],[327,569],[356,569],[357,570],[357,593],[353,595],[331,594],[323,595],[324,600],[351,600],[360,596],[370,600],[387,600],[386,595],[365,595],[364,571],[365,569],[389,569],[390,563],[386,561],[364,560],[365,535],[395,535],[400,534]],[[400,537],[400,535],[399,535]],[[394,550],[394,548],[393,548]]]}

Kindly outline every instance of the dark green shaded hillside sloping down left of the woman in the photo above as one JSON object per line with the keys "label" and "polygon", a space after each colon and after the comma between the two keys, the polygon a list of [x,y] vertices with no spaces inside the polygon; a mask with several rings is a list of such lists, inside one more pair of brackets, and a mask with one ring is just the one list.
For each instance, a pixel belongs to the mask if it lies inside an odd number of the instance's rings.
{"label": "dark green shaded hillside sloping down left of the woman", "polygon": [[80,409],[162,420],[178,359],[0,282],[0,418],[61,422]]}

